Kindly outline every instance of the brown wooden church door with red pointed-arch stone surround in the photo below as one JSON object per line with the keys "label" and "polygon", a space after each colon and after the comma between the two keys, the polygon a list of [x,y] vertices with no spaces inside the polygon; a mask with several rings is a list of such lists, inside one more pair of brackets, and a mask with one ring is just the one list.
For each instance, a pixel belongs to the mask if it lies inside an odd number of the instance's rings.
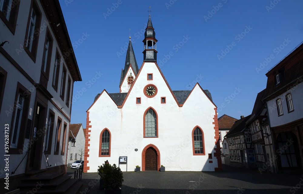
{"label": "brown wooden church door with red pointed-arch stone surround", "polygon": [[142,151],[142,171],[158,171],[160,169],[160,152],[158,148],[149,144]]}

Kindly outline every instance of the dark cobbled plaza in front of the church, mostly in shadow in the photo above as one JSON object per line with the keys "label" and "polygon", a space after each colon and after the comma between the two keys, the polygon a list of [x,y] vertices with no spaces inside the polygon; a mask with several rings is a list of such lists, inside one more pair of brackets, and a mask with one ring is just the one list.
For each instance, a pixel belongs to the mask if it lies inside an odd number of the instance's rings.
{"label": "dark cobbled plaza in front of the church, mostly in shadow", "polygon": [[[68,175],[72,175],[68,168]],[[72,177],[73,178],[73,177]],[[223,165],[223,172],[145,171],[123,172],[122,193],[275,193],[302,194],[303,177],[291,174],[259,173]],[[87,192],[104,193],[99,189],[98,173],[83,173]]]}

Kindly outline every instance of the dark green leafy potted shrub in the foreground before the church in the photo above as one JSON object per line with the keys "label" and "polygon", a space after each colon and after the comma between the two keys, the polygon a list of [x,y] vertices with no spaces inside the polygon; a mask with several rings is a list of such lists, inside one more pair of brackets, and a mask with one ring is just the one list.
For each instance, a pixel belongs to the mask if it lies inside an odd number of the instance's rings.
{"label": "dark green leafy potted shrub in the foreground before the church", "polygon": [[[105,189],[105,193],[119,193],[121,194],[121,186],[123,180],[123,173],[119,167],[115,164],[110,165],[104,163],[102,166],[98,166],[98,174],[100,175],[100,181],[103,180],[102,187]],[[101,183],[100,183],[101,184]]]}

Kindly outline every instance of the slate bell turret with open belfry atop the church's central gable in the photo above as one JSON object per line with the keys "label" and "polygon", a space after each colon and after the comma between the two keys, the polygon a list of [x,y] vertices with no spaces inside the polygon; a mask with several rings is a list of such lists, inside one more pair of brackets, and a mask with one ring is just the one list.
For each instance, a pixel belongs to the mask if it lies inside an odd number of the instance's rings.
{"label": "slate bell turret with open belfry atop the church's central gable", "polygon": [[155,31],[154,28],[152,27],[151,23],[151,15],[149,15],[148,18],[148,23],[147,27],[145,29],[144,33],[144,51],[143,53],[143,61],[155,61],[157,62],[157,47],[156,47],[156,42],[158,41],[155,38]]}

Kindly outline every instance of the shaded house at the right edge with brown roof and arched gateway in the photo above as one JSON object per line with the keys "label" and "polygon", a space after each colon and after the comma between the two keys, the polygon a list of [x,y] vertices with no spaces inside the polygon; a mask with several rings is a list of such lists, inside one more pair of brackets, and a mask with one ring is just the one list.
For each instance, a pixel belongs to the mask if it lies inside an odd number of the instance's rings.
{"label": "shaded house at the right edge with brown roof and arched gateway", "polygon": [[302,42],[266,73],[266,102],[279,172],[303,169]]}

